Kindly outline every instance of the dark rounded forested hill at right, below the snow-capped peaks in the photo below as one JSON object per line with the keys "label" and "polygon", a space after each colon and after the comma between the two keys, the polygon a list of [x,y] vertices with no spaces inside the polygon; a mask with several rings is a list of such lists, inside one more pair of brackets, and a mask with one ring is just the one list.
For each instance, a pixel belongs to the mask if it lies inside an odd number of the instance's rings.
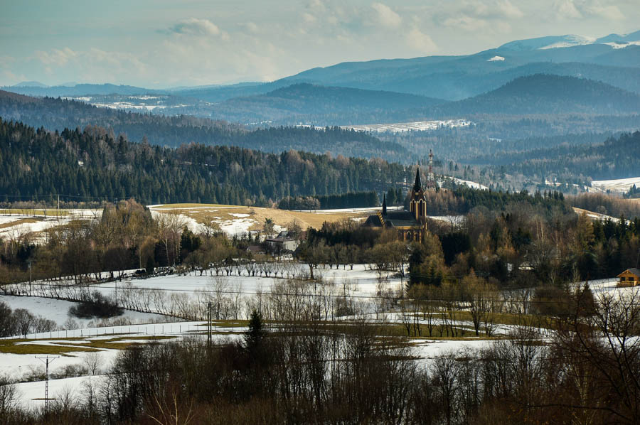
{"label": "dark rounded forested hill at right, below the snow-capped peaks", "polygon": [[479,95],[434,108],[437,114],[636,114],[640,95],[604,82],[560,75],[519,77]]}

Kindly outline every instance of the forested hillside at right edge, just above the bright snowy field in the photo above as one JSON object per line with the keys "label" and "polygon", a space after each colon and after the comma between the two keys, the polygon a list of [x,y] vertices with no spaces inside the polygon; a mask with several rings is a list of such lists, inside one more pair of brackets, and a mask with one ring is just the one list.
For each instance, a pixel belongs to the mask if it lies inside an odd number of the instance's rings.
{"label": "forested hillside at right edge, just above the bright snowy field", "polygon": [[[489,161],[486,161],[489,162]],[[592,145],[562,145],[505,154],[494,164],[525,176],[585,176],[593,180],[640,176],[640,131]]]}

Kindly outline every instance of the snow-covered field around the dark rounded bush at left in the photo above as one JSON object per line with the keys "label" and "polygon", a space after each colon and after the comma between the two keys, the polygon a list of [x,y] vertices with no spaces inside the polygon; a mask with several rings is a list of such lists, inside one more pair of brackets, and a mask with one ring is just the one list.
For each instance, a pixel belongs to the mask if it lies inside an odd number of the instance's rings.
{"label": "snow-covered field around the dark rounded bush at left", "polygon": [[[12,310],[23,308],[29,311],[33,316],[43,316],[50,321],[54,321],[60,328],[65,326],[65,322],[70,317],[68,315],[69,308],[77,305],[73,301],[58,300],[55,298],[43,298],[40,296],[10,296],[0,295],[0,302],[5,302]],[[169,316],[154,313],[140,313],[139,311],[125,310],[122,316],[116,319],[127,320],[131,323],[160,323],[171,320]],[[73,321],[78,328],[87,328],[92,323],[100,320],[83,319],[73,317]]]}

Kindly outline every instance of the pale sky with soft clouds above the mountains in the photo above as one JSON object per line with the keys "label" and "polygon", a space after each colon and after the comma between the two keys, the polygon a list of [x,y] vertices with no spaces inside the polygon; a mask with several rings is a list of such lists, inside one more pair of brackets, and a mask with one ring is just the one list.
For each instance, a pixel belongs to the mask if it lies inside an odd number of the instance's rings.
{"label": "pale sky with soft clouds above the mountains", "polygon": [[0,1],[0,85],[271,81],[346,61],[640,29],[640,0]]}

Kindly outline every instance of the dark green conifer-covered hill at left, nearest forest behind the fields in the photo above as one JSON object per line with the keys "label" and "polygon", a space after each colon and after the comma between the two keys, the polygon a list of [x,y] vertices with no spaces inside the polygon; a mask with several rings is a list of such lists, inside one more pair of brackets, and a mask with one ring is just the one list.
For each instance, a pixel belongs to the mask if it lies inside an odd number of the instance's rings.
{"label": "dark green conifer-covered hill at left, nearest forest behind the fields", "polygon": [[[0,200],[135,197],[142,203],[270,205],[286,195],[386,190],[410,170],[380,159],[112,138],[90,127],[52,133],[0,120]],[[82,200],[85,198],[70,198]]]}

